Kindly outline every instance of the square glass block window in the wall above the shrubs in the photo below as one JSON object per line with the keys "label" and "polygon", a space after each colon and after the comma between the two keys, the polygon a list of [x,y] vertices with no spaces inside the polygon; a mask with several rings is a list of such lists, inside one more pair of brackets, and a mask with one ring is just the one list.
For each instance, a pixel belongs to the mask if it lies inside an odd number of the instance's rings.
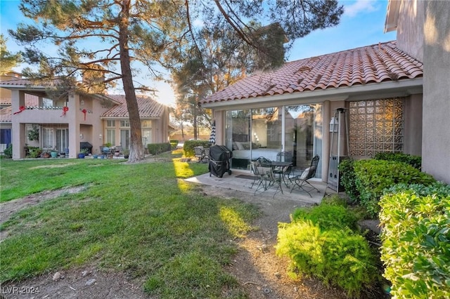
{"label": "square glass block window in the wall above the shrubs", "polygon": [[349,102],[349,154],[402,152],[404,98]]}

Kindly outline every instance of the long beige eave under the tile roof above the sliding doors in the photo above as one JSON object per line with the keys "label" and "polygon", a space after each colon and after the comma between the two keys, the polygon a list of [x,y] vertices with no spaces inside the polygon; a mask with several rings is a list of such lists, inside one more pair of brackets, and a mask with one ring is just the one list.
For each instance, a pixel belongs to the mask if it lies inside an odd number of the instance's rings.
{"label": "long beige eave under the tile roof above the sliding doors", "polygon": [[415,79],[402,79],[399,81],[344,86],[316,91],[285,93],[283,95],[270,95],[240,100],[209,102],[202,104],[202,107],[212,109],[230,109],[234,106],[239,107],[240,109],[248,109],[256,107],[255,104],[257,104],[257,107],[274,107],[274,104],[279,102],[282,102],[282,105],[297,105],[302,102],[314,103],[323,102],[325,100],[368,100],[371,98],[387,98],[422,93],[422,88],[423,77],[418,77]]}

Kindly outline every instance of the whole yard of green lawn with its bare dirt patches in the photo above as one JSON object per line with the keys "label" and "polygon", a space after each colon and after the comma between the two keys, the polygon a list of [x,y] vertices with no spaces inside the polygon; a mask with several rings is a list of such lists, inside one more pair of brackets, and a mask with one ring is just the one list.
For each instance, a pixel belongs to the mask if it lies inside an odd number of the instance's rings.
{"label": "whole yard of green lawn with its bare dirt patches", "polygon": [[345,298],[315,279],[293,281],[288,261],[274,254],[277,223],[289,219],[292,202],[188,184],[183,179],[207,164],[180,157],[2,159],[1,210],[6,201],[35,204],[1,217],[2,290],[39,288],[39,298]]}

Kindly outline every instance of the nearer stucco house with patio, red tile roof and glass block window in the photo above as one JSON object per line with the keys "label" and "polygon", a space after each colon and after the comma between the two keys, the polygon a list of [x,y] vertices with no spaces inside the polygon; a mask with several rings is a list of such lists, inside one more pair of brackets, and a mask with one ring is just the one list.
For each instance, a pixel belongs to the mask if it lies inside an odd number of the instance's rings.
{"label": "nearer stucco house with patio, red tile roof and glass block window", "polygon": [[[213,110],[217,144],[233,150],[231,168],[250,170],[250,159],[281,151],[304,168],[319,154],[316,178],[327,182],[330,122],[343,108],[342,155],[421,155],[423,171],[450,182],[449,5],[390,1],[386,28],[397,28],[397,41],[286,62],[200,100]],[[431,18],[441,44],[436,36],[427,44]]]}

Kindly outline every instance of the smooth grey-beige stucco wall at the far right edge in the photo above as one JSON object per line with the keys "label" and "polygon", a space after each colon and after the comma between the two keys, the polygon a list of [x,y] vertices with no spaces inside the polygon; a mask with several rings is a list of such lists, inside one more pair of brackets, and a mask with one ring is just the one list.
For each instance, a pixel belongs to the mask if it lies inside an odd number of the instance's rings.
{"label": "smooth grey-beige stucco wall at the far right edge", "polygon": [[427,1],[422,170],[450,184],[450,1]]}

